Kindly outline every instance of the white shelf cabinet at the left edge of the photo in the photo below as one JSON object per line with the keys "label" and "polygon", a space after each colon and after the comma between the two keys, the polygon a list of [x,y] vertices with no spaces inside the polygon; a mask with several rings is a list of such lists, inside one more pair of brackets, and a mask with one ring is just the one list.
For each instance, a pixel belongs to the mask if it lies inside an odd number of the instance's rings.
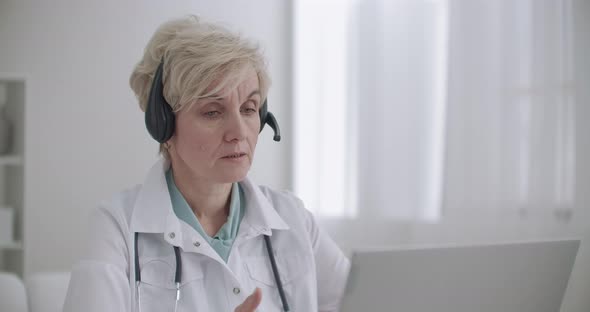
{"label": "white shelf cabinet at the left edge of the photo", "polygon": [[[25,95],[24,76],[0,73],[0,271],[20,276],[24,263]],[[3,126],[4,120],[10,127]]]}

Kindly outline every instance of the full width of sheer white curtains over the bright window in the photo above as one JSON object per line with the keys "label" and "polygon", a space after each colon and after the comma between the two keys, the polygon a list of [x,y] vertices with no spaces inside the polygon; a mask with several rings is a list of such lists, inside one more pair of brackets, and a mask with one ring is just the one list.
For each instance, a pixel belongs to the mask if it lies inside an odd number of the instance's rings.
{"label": "full width of sheer white curtains over the bright window", "polygon": [[428,222],[571,209],[569,0],[294,12],[294,185],[309,209]]}

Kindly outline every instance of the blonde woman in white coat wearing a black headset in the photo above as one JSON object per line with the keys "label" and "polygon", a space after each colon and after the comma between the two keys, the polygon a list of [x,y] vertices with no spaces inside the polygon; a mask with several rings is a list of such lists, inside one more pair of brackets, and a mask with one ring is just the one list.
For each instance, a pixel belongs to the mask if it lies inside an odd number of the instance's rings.
{"label": "blonde woman in white coat wearing a black headset", "polygon": [[257,47],[191,16],[131,78],[162,158],[91,216],[65,311],[336,311],[349,261],[292,194],[247,173],[270,80]]}

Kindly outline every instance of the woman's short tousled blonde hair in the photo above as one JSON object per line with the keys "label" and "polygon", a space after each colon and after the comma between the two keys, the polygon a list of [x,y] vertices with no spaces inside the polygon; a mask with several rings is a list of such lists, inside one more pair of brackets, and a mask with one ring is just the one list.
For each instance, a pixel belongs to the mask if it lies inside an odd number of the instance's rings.
{"label": "woman's short tousled blonde hair", "polygon": [[[164,98],[178,112],[196,100],[243,81],[248,65],[258,75],[261,103],[267,97],[270,77],[258,45],[221,25],[190,15],[162,24],[148,42],[129,84],[145,112],[154,74],[164,62]],[[229,74],[231,73],[231,74]],[[213,86],[212,90],[207,88]],[[169,158],[160,144],[160,153]]]}

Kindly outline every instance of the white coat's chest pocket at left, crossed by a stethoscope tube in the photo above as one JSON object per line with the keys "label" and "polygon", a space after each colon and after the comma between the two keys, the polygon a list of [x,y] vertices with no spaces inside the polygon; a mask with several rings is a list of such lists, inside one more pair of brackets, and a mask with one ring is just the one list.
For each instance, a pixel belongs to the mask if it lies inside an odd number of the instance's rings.
{"label": "white coat's chest pocket at left, crossed by a stethoscope tube", "polygon": [[[176,261],[174,257],[152,259],[141,265],[141,312],[174,311],[176,304]],[[178,311],[208,311],[207,302],[198,306],[190,294],[203,292],[203,271],[199,266],[182,267]]]}

